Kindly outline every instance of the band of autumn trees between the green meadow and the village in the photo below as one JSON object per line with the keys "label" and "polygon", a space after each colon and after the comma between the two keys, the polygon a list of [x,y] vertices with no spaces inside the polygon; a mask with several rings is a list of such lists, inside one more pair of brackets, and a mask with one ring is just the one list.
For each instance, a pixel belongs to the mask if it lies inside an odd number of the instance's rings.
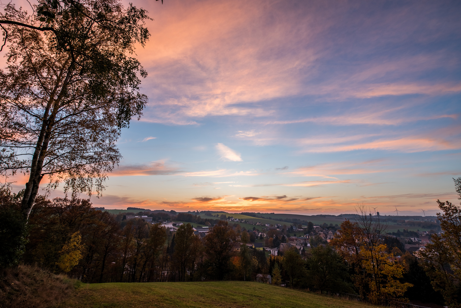
{"label": "band of autumn trees between the green meadow and the village", "polygon": [[[460,183],[458,178],[457,190]],[[268,256],[246,245],[246,230],[224,220],[213,222],[201,238],[190,223],[171,232],[139,218],[119,221],[117,215],[95,210],[88,199],[38,196],[24,224],[22,192],[0,192],[6,222],[1,228],[2,267],[23,262],[87,283],[266,282],[271,275],[272,284],[356,294],[373,303],[415,299],[460,307],[461,209],[448,201],[438,201],[444,233],[432,235],[432,243],[416,255],[403,253],[385,233],[385,223],[359,206],[358,221],[344,221],[328,244]],[[278,238],[275,231],[269,236]]]}

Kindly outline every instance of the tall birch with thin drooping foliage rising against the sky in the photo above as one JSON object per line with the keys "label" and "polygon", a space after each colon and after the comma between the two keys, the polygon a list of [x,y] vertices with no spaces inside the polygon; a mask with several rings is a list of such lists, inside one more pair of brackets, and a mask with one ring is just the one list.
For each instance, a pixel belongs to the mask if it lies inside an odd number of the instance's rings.
{"label": "tall birch with thin drooping foliage rising against the sky", "polygon": [[0,171],[29,175],[25,217],[43,177],[49,188],[64,181],[65,191],[100,194],[121,157],[120,129],[147,103],[138,77],[147,72],[130,56],[149,36],[145,10],[116,0],[34,8],[38,15],[7,4],[0,16],[10,43],[0,71]]}

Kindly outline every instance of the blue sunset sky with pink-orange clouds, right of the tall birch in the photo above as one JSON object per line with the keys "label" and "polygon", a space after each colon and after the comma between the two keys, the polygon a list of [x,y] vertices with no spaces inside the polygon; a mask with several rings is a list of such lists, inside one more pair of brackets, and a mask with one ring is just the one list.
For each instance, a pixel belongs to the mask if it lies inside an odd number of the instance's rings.
{"label": "blue sunset sky with pink-orange clouds, right of the tall birch", "polygon": [[461,2],[133,2],[153,18],[136,49],[149,104],[94,206],[434,215],[437,199],[459,203]]}

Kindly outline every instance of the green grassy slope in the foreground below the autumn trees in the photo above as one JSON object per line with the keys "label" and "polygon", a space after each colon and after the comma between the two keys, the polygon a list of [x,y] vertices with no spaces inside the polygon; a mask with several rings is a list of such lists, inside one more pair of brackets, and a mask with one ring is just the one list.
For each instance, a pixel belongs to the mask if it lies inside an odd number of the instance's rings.
{"label": "green grassy slope in the foreground below the autumn trees", "polygon": [[[340,299],[243,281],[87,284],[59,307],[312,307],[369,308]],[[376,306],[373,306],[376,307]]]}

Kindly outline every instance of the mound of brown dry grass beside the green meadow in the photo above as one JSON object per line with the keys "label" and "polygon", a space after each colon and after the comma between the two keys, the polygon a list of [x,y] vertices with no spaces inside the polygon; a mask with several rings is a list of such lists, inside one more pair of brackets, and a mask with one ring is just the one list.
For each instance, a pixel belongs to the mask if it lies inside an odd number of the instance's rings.
{"label": "mound of brown dry grass beside the green meadow", "polygon": [[0,272],[1,308],[46,308],[64,301],[75,291],[75,280],[36,266],[20,265]]}

